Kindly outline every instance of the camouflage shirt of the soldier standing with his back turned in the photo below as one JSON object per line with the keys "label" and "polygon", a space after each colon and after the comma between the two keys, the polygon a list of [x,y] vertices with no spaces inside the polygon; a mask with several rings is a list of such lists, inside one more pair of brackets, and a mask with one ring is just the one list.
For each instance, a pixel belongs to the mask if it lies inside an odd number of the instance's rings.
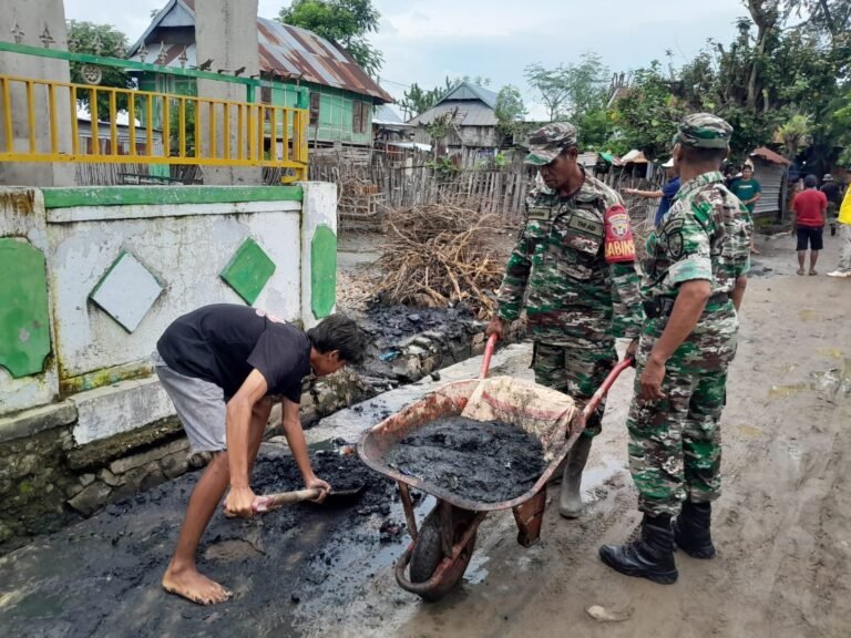
{"label": "camouflage shirt of the soldier standing with his back turned", "polygon": [[750,268],[753,223],[718,172],[683,184],[662,225],[647,238],[642,297],[675,298],[679,285],[711,282],[712,295],[729,295]]}

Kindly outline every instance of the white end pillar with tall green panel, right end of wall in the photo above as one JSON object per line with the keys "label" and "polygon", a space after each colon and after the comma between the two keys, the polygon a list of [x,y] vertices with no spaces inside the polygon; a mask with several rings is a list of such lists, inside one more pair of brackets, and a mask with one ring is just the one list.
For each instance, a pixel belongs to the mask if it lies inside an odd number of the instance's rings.
{"label": "white end pillar with tall green panel, right end of wall", "polygon": [[337,184],[303,182],[301,321],[311,328],[334,312],[337,288]]}

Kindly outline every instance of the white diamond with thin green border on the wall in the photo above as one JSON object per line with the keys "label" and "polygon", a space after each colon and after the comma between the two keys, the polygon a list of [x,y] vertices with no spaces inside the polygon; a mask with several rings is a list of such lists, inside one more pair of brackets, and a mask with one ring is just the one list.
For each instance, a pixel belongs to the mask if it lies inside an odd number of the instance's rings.
{"label": "white diamond with thin green border on the wall", "polygon": [[133,332],[145,318],[163,286],[139,259],[122,253],[92,289],[89,298]]}

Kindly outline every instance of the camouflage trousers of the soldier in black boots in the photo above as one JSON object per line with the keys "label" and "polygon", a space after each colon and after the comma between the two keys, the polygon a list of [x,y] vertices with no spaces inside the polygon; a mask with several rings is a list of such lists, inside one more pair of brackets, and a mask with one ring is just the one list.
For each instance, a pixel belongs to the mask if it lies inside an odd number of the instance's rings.
{"label": "camouflage trousers of the soldier in black boots", "polygon": [[[726,352],[708,370],[697,370],[675,353],[662,384],[665,398],[658,401],[639,398],[646,361],[640,352],[652,347],[647,341],[642,338],[627,419],[629,472],[638,490],[638,510],[652,516],[675,516],[686,498],[708,503],[720,496],[720,418],[736,339],[725,343]],[[686,350],[688,346],[694,344]]]}

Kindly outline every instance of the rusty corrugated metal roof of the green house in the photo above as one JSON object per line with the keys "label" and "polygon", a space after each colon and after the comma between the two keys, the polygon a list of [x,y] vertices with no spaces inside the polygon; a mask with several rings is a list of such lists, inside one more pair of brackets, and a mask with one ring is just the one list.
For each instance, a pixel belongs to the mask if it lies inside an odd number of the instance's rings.
{"label": "rusty corrugated metal roof of the green house", "polygon": [[[194,19],[195,0],[172,0],[156,16],[140,42],[130,51],[131,55],[137,52],[143,40],[148,41],[147,35],[153,33],[158,23],[177,4],[182,4]],[[285,80],[303,80],[370,95],[376,99],[376,102],[393,102],[390,94],[367,75],[351,55],[312,31],[257,18],[257,39],[260,71],[264,73],[279,75]],[[152,39],[150,44],[156,44],[155,39]],[[170,50],[167,55],[172,60],[183,50],[183,45],[178,48],[166,45],[166,48]],[[174,48],[177,49],[177,53],[172,55]]]}

